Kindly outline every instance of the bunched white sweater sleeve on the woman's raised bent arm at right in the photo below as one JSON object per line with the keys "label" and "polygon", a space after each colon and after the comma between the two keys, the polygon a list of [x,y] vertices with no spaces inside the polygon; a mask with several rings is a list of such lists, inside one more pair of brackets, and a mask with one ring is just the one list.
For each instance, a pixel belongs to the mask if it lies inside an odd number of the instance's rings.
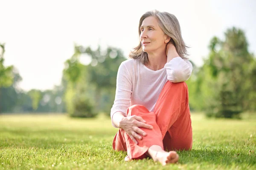
{"label": "bunched white sweater sleeve on the woman's raised bent arm at right", "polygon": [[192,63],[180,57],[173,58],[165,64],[167,79],[173,83],[187,81],[192,74]]}

